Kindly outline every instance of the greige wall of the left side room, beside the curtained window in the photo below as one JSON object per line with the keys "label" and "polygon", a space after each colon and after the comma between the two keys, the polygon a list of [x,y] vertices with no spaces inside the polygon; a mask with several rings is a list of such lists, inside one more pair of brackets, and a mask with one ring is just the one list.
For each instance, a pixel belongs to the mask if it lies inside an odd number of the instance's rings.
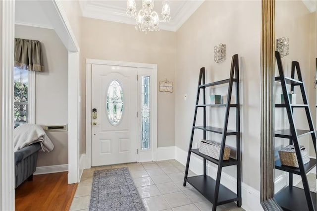
{"label": "greige wall of the left side room, beside the curtained window", "polygon": [[[68,52],[54,30],[15,26],[15,37],[41,42],[44,71],[36,72],[35,123],[68,123]],[[68,163],[68,132],[47,132],[54,144],[50,153],[39,153],[37,166]]]}

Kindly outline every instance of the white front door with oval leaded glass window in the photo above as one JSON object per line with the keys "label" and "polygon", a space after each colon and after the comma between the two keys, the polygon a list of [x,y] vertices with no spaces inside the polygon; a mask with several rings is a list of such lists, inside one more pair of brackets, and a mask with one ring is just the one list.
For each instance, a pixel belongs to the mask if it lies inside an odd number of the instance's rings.
{"label": "white front door with oval leaded glass window", "polygon": [[136,162],[137,68],[92,64],[91,86],[92,166]]}

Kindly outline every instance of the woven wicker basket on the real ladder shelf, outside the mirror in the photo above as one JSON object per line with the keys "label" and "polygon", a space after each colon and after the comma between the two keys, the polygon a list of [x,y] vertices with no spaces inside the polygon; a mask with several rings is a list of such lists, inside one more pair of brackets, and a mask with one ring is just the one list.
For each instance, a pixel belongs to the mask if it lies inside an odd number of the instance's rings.
{"label": "woven wicker basket on the real ladder shelf, outside the mirror", "polygon": [[[220,143],[209,141],[209,140],[202,140],[200,143],[200,148],[198,150],[200,153],[207,155],[211,158],[219,159],[220,157]],[[223,159],[228,160],[230,157],[230,147],[224,147],[224,155]]]}

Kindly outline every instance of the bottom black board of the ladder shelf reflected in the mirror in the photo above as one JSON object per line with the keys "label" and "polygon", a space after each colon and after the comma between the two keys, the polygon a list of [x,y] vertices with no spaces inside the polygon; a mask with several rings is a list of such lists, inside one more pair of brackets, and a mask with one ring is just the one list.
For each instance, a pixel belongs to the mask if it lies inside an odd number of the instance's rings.
{"label": "bottom black board of the ladder shelf reflected in the mirror", "polygon": [[[310,193],[316,211],[316,193]],[[277,204],[281,206],[284,211],[309,211],[304,189],[294,186],[287,186],[276,193],[274,198]]]}

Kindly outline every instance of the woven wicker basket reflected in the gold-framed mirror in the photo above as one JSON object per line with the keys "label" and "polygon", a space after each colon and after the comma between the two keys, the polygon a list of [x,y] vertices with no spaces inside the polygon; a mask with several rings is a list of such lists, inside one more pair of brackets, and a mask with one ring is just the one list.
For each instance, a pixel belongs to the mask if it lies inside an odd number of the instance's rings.
{"label": "woven wicker basket reflected in the gold-framed mirror", "polygon": [[[300,146],[301,155],[303,158],[303,162],[308,163],[310,161],[309,155],[304,146]],[[288,145],[284,147],[282,150],[278,151],[279,158],[281,159],[282,165],[292,166],[292,167],[299,167],[298,161],[296,157],[296,152],[294,145]]]}

